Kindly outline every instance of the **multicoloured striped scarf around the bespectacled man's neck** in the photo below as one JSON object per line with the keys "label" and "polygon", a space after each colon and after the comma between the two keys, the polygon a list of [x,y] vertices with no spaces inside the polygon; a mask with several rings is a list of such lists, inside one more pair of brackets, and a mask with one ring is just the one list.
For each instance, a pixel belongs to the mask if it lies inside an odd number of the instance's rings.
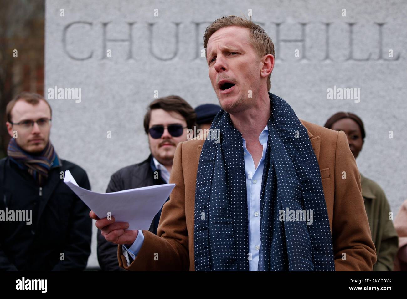
{"label": "multicoloured striped scarf around the bespectacled man's neck", "polygon": [[49,141],[41,153],[33,155],[24,151],[15,142],[15,139],[11,138],[7,147],[7,155],[21,169],[28,170],[28,173],[33,176],[38,186],[43,186],[52,167],[62,165],[53,145]]}

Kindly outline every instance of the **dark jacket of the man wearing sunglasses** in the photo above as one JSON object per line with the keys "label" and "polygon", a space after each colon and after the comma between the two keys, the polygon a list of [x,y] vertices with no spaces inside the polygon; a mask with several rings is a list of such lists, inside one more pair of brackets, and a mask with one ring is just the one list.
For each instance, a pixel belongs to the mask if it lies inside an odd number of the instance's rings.
{"label": "dark jacket of the man wearing sunglasses", "polygon": [[[155,174],[155,171],[158,173]],[[158,175],[158,176],[157,176]],[[154,178],[155,177],[155,178]],[[116,192],[121,190],[140,188],[146,186],[154,186],[165,184],[161,178],[160,170],[155,169],[152,162],[152,155],[138,164],[126,166],[116,171],[110,178],[106,193]],[[168,199],[167,199],[168,201]],[[158,220],[160,219],[161,210],[155,216],[150,225],[149,231],[156,234]],[[119,267],[117,260],[117,245],[106,241],[102,236],[101,230],[98,229],[98,262],[102,271],[126,271]]]}

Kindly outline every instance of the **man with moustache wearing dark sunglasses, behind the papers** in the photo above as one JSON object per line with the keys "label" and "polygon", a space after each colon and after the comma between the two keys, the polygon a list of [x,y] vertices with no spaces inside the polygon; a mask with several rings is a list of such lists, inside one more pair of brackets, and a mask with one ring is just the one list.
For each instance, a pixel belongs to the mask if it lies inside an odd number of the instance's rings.
{"label": "man with moustache wearing dark sunglasses, behind the papers", "polygon": [[[187,129],[193,129],[195,120],[195,110],[179,96],[167,96],[151,102],[144,116],[144,131],[148,135],[151,154],[143,162],[115,172],[106,192],[168,183],[175,148],[179,142],[187,140]],[[153,234],[157,234],[160,216],[161,210],[151,222],[149,231]],[[140,240],[138,244],[141,243]],[[128,255],[134,256],[136,247],[137,244],[134,244],[123,247],[123,250]],[[117,245],[108,242],[100,229],[98,229],[98,261],[103,271],[124,270],[117,262]]]}

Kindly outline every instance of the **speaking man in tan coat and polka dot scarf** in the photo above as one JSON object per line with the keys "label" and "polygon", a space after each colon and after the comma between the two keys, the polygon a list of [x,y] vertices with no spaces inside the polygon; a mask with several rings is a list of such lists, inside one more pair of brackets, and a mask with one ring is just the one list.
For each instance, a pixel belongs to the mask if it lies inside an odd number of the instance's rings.
{"label": "speaking man in tan coat and polka dot scarf", "polygon": [[[222,107],[211,128],[221,142],[208,135],[178,144],[176,186],[157,236],[90,213],[105,239],[119,244],[119,265],[371,271],[376,251],[345,133],[299,120],[268,92],[274,45],[251,20],[221,17],[206,28],[204,46]],[[134,254],[123,254],[122,244]]]}

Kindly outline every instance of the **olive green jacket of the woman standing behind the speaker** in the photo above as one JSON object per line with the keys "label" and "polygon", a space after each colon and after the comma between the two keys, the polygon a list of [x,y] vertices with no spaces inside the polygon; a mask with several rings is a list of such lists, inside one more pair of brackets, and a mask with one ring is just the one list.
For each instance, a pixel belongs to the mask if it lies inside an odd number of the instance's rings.
{"label": "olive green jacket of the woman standing behind the speaker", "polygon": [[398,236],[393,221],[389,219],[389,203],[377,183],[362,174],[360,178],[366,214],[377,254],[373,271],[393,271],[394,258],[398,251]]}

